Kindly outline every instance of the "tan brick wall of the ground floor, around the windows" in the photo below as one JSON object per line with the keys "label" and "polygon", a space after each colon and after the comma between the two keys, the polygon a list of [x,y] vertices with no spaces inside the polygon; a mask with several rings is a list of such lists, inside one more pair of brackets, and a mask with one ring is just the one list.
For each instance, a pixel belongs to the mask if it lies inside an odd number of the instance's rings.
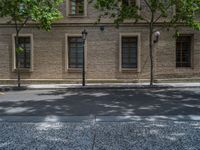
{"label": "tan brick wall of the ground floor, around the windows", "polygon": [[[22,73],[23,79],[80,79],[80,72],[65,69],[65,34],[80,34],[83,27],[55,27],[51,32],[27,28],[23,33],[33,34],[33,72]],[[87,78],[88,79],[144,79],[149,78],[148,30],[145,27],[86,27]],[[0,28],[0,78],[15,79],[12,72],[12,28]],[[141,72],[119,71],[119,34],[141,34]],[[193,67],[177,69],[175,64],[175,39],[173,31],[161,32],[155,45],[155,71],[157,78],[200,76],[200,33],[183,29],[182,33],[194,34]]]}

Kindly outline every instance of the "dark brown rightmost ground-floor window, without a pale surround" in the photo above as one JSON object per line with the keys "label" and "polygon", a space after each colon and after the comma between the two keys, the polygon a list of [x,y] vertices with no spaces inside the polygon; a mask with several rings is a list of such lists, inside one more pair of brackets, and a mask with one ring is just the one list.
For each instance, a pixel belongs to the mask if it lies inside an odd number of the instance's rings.
{"label": "dark brown rightmost ground-floor window, without a pale surround", "polygon": [[179,36],[176,40],[176,67],[191,67],[191,36]]}

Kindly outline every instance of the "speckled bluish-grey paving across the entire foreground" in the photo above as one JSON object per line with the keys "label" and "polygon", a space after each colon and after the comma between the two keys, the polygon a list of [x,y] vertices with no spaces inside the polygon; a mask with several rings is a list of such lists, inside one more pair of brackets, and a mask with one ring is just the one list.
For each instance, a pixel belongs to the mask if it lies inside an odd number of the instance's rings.
{"label": "speckled bluish-grey paving across the entire foreground", "polygon": [[1,150],[199,150],[200,121],[0,122]]}

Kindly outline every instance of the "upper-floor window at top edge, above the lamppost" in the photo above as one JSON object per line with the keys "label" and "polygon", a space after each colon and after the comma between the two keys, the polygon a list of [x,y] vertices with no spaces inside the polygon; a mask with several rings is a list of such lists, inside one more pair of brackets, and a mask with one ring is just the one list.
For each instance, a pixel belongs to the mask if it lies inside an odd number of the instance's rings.
{"label": "upper-floor window at top edge, above the lamppost", "polygon": [[84,15],[84,0],[70,0],[70,16],[83,16]]}

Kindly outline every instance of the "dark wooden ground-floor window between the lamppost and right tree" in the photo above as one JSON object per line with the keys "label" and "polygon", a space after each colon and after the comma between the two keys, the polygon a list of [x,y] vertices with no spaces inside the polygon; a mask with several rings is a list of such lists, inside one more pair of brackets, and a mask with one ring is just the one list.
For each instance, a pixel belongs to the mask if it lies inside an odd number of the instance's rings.
{"label": "dark wooden ground-floor window between the lamppost and right tree", "polygon": [[122,68],[137,68],[137,37],[122,37]]}

